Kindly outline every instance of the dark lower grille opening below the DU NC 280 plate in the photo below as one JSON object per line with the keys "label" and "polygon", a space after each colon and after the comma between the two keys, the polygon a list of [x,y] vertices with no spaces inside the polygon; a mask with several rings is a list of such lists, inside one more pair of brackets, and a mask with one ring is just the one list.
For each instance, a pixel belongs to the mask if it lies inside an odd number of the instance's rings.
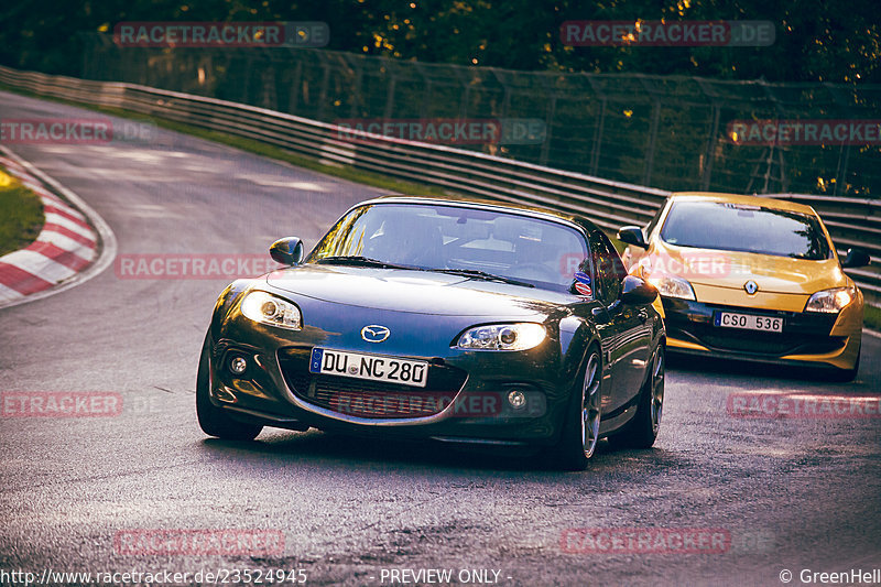
{"label": "dark lower grille opening below the DU NC 280 plate", "polygon": [[315,374],[308,371],[311,352],[311,348],[285,348],[279,351],[279,365],[285,382],[297,398],[348,416],[431,416],[453,403],[467,378],[461,369],[444,365],[428,368],[425,388]]}

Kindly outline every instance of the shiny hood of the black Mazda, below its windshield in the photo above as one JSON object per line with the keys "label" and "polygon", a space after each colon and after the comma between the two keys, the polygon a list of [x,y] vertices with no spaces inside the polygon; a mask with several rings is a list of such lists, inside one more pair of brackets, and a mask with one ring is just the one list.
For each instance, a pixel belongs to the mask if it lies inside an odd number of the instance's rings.
{"label": "shiny hood of the black Mazda, below its windshield", "polygon": [[543,320],[573,295],[460,275],[305,264],[267,275],[272,287],[334,304],[449,316]]}

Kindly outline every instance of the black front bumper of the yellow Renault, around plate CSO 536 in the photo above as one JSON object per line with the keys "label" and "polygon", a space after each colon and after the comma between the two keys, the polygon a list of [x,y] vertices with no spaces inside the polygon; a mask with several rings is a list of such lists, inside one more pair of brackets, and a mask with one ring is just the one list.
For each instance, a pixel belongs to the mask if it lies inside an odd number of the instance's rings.
{"label": "black front bumper of the yellow Renault, around plate CSO 536", "polygon": [[[812,314],[667,297],[663,305],[671,351],[783,365],[812,362],[838,369],[852,368],[859,355],[861,316],[859,326],[842,319],[849,308],[841,315]],[[721,311],[783,318],[783,331],[715,326],[714,316]]]}

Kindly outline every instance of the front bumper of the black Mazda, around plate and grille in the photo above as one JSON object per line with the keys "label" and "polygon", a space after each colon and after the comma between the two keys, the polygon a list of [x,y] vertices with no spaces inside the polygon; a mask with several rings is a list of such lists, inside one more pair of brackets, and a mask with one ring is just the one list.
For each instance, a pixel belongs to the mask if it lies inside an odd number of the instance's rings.
{"label": "front bumper of the black Mazda, around plate and grille", "polygon": [[[218,334],[210,352],[211,402],[238,420],[291,430],[547,445],[559,434],[575,379],[552,336],[527,351],[446,348],[445,356],[433,357],[389,349],[389,356],[429,362],[426,388],[414,388],[311,373],[314,346],[377,354],[367,343],[329,330],[320,336],[304,330],[281,340],[271,328],[233,319]],[[230,371],[233,357],[246,359],[243,373]],[[526,398],[522,409],[508,402],[513,390]]]}

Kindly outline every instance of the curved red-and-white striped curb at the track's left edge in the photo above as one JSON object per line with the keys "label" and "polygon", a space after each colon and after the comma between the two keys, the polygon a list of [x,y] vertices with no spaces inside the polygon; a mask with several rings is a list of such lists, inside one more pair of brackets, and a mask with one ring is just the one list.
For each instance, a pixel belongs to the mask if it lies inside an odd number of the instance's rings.
{"label": "curved red-and-white striped curb at the track's left edge", "polygon": [[57,293],[106,269],[116,254],[116,239],[104,219],[43,172],[8,149],[2,151],[0,164],[43,202],[45,224],[29,247],[0,257],[0,307]]}

